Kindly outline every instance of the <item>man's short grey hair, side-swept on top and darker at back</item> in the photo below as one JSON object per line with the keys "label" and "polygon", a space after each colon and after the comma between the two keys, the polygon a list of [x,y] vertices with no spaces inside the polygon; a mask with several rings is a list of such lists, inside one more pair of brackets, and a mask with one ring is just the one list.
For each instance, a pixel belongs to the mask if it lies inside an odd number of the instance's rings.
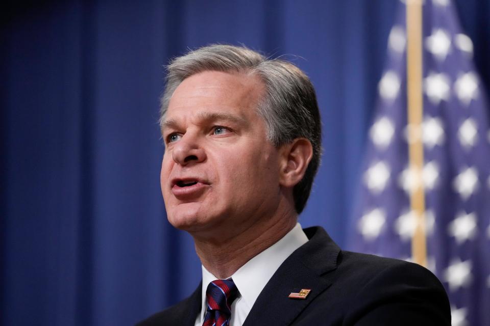
{"label": "man's short grey hair, side-swept on top and darker at back", "polygon": [[260,53],[233,45],[213,44],[189,51],[167,66],[166,86],[161,98],[160,124],[164,122],[170,97],[182,81],[203,71],[256,74],[265,85],[257,111],[265,122],[267,139],[279,147],[296,138],[306,138],[313,157],[303,179],[293,188],[295,209],[303,211],[320,165],[322,127],[313,85],[306,74],[290,62],[268,59]]}

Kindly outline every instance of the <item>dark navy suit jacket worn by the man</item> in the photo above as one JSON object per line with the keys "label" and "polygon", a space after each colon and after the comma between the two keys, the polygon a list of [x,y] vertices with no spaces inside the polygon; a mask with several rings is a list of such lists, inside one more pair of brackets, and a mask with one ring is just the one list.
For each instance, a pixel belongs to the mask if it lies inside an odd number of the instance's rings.
{"label": "dark navy suit jacket worn by the man", "polygon": [[[324,229],[304,230],[309,241],[265,285],[243,326],[451,325],[447,294],[437,278],[402,260],[341,251]],[[305,300],[289,293],[311,289]],[[184,301],[138,326],[193,326],[201,284]]]}

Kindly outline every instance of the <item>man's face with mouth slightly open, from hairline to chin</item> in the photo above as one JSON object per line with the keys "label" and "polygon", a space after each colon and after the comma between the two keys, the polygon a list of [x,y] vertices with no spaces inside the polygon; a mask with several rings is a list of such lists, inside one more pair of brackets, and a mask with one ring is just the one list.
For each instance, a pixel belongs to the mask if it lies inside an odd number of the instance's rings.
{"label": "man's face with mouth slightly open, from hairline to chin", "polygon": [[176,89],[162,126],[160,176],[173,226],[238,234],[277,209],[279,153],[257,114],[263,92],[257,76],[217,71],[192,75]]}

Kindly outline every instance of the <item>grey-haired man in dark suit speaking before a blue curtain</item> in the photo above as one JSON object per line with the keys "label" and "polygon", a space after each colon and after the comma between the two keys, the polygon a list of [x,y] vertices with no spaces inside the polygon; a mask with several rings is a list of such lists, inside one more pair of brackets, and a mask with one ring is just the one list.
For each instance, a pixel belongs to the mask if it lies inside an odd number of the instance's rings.
{"label": "grey-haired man in dark suit speaking before a blue curtain", "polygon": [[168,221],[203,282],[140,325],[449,325],[425,268],[341,251],[298,214],[320,162],[315,92],[296,66],[211,45],[168,66],[161,119]]}

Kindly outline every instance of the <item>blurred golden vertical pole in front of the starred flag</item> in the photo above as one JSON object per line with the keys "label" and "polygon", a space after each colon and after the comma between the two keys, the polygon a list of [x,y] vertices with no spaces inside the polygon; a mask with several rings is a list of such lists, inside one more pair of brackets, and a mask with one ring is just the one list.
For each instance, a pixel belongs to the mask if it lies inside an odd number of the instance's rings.
{"label": "blurred golden vertical pole in front of the starred flag", "polygon": [[410,206],[418,223],[412,236],[412,260],[427,266],[425,237],[425,194],[422,181],[424,147],[422,144],[422,0],[406,0],[407,4],[407,107],[410,138],[408,155],[410,170],[417,178],[410,195]]}

